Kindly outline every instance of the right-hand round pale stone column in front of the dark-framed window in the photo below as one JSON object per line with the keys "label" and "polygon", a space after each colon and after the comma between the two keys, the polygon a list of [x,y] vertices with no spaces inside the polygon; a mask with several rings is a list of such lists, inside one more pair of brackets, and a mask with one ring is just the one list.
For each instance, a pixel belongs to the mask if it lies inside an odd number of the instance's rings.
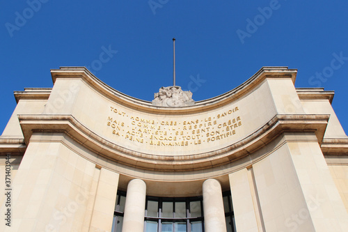
{"label": "right-hand round pale stone column in front of the dark-framed window", "polygon": [[206,232],[226,232],[221,185],[218,180],[203,183],[203,211]]}

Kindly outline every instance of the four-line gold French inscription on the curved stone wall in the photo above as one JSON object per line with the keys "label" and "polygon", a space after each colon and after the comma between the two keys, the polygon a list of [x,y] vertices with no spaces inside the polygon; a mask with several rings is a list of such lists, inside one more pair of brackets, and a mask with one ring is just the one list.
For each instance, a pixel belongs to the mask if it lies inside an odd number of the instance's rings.
{"label": "four-line gold French inscription on the curved stone wall", "polygon": [[118,107],[110,107],[106,119],[106,126],[114,137],[154,147],[219,143],[235,137],[242,126],[239,107],[231,107],[205,118],[188,116],[175,121],[135,116]]}

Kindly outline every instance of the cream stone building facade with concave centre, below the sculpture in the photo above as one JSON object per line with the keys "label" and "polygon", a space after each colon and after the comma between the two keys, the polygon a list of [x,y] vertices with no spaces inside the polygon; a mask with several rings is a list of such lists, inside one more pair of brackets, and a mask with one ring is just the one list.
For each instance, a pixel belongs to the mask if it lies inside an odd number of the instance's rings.
{"label": "cream stone building facade with concave centre, below the sculpture", "polygon": [[51,73],[15,92],[0,137],[1,231],[348,231],[348,137],[333,91],[294,88],[296,70],[184,107]]}

